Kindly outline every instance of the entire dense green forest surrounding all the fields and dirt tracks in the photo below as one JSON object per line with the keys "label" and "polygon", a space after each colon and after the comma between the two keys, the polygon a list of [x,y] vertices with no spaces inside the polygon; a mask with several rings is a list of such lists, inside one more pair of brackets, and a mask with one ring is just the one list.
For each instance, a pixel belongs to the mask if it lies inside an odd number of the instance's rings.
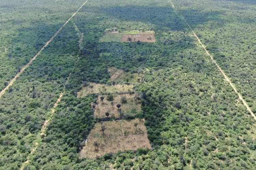
{"label": "entire dense green forest surrounding all the fields and dirt tracks", "polygon": [[[0,169],[255,169],[256,121],[182,17],[255,112],[256,4],[171,1],[176,10],[169,0],[89,0],[0,98]],[[0,89],[84,3],[35,2],[0,6]],[[153,30],[156,42],[99,42],[113,27]],[[99,120],[91,108],[97,95],[77,92],[87,82],[114,84],[110,67],[144,73],[133,91],[142,107],[135,117],[145,119],[152,149],[80,159]]]}

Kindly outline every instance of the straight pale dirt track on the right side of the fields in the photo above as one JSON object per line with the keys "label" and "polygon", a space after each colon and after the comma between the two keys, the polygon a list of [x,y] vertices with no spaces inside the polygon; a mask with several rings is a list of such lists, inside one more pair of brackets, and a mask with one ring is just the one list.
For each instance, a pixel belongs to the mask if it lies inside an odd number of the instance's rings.
{"label": "straight pale dirt track on the right side of the fields", "polygon": [[[171,2],[171,0],[169,0]],[[172,7],[174,8],[174,10],[177,12],[174,4],[171,2]],[[178,13],[179,14],[179,13]],[[237,93],[239,99],[243,102],[243,104],[245,105],[245,107],[247,108],[247,110],[251,113],[251,115],[253,116],[253,118],[256,120],[256,116],[254,115],[252,109],[249,107],[249,105],[246,103],[246,101],[243,99],[243,96],[237,91],[236,87],[234,86],[234,84],[231,82],[231,80],[228,78],[228,76],[226,75],[226,73],[222,70],[222,68],[218,65],[218,63],[214,60],[213,56],[209,53],[209,51],[205,48],[205,46],[202,44],[201,40],[199,39],[199,37],[196,35],[196,33],[194,32],[194,30],[190,27],[190,25],[187,23],[186,19],[180,14],[180,16],[182,17],[182,19],[185,21],[185,23],[187,24],[187,26],[189,27],[189,29],[193,32],[194,36],[197,38],[199,44],[203,47],[204,51],[206,52],[207,55],[209,55],[211,57],[211,60],[215,63],[215,65],[217,66],[217,68],[219,69],[219,71],[222,73],[222,75],[224,76],[224,78],[226,79],[226,81],[229,83],[229,85],[233,88],[233,90]]]}

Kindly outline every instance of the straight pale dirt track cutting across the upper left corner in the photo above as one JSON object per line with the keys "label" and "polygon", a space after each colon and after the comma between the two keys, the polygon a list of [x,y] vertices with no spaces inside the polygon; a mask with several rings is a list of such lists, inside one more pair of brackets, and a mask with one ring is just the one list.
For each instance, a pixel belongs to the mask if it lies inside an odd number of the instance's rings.
{"label": "straight pale dirt track cutting across the upper left corner", "polygon": [[3,96],[4,92],[6,90],[8,90],[12,84],[17,80],[17,78],[20,76],[20,74],[22,74],[24,72],[24,70],[26,68],[28,68],[28,66],[37,58],[38,55],[40,55],[40,53],[44,50],[45,47],[47,47],[49,45],[49,43],[51,43],[51,41],[57,36],[57,34],[62,30],[62,28],[64,26],[66,26],[66,24],[76,15],[77,12],[79,12],[79,10],[81,10],[81,8],[86,4],[87,1],[85,1],[80,8],[78,8],[78,10],[65,22],[65,24],[63,24],[62,27],[60,27],[60,29],[53,35],[53,37],[47,41],[47,43],[43,46],[43,48],[41,48],[41,50],[15,75],[15,77],[9,82],[9,84],[0,92],[0,98]]}

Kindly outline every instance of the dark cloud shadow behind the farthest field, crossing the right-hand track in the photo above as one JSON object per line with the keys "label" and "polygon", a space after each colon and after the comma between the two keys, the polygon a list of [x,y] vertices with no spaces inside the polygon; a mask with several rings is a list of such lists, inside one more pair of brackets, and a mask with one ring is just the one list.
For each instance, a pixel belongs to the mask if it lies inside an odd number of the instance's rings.
{"label": "dark cloud shadow behind the farthest field, crossing the right-hand track", "polygon": [[[93,8],[91,12],[98,13],[107,18],[116,18],[123,21],[138,21],[148,24],[153,24],[154,30],[157,31],[186,31],[187,26],[182,21],[182,18],[173,11],[171,6],[156,7],[156,6],[115,6],[109,8]],[[89,11],[90,11],[89,10]],[[193,25],[200,25],[208,21],[217,21],[219,26],[222,26],[228,20],[221,18],[222,12],[210,11],[200,12],[199,10],[182,11],[188,20],[193,22]]]}

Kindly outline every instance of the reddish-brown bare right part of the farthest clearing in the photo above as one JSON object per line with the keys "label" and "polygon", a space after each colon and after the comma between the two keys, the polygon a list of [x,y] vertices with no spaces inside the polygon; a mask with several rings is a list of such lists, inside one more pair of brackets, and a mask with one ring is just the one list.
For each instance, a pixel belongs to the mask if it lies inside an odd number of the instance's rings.
{"label": "reddish-brown bare right part of the farthest clearing", "polygon": [[138,35],[123,35],[121,42],[147,42],[154,43],[155,42],[155,34],[154,33],[139,33]]}

